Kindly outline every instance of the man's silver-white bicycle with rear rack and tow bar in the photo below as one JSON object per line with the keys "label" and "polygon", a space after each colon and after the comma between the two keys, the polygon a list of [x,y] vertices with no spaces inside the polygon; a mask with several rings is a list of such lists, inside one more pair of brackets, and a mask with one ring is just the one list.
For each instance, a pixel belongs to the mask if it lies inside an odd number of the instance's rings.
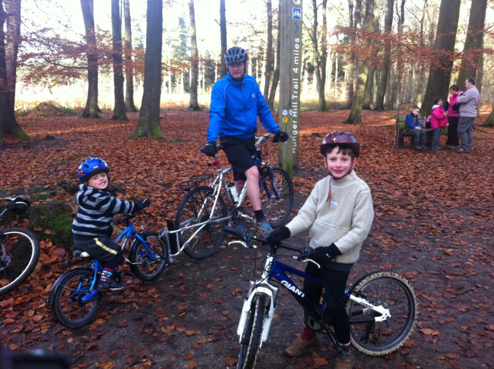
{"label": "man's silver-white bicycle with rear rack and tow bar", "polygon": [[[274,137],[270,134],[255,137],[257,152],[253,159],[260,175],[261,208],[271,227],[277,228],[281,227],[290,215],[293,206],[293,184],[285,170],[272,167],[262,160],[261,143],[272,141]],[[217,148],[221,149],[221,146]],[[205,172],[179,185],[185,196],[178,205],[175,224],[173,226],[169,223],[168,228],[162,231],[169,243],[179,246],[176,253],[170,253],[171,257],[181,250],[198,259],[208,257],[216,252],[223,242],[224,227],[230,219],[236,223],[254,221],[243,207],[247,197],[247,182],[241,193],[237,194],[234,184],[228,184],[226,179],[227,174],[233,170],[232,166],[222,168],[217,156],[208,166],[215,167],[217,174]],[[202,185],[204,183],[208,185]],[[170,240],[173,236],[175,239]]]}

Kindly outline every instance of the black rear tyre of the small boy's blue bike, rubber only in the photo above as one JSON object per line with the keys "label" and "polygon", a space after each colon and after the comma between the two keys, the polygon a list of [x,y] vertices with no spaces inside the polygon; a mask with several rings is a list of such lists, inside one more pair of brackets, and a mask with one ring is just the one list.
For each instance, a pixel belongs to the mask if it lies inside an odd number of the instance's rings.
{"label": "black rear tyre of the small boy's blue bike, rubber only", "polygon": [[[71,282],[75,278],[84,278],[89,281],[92,275],[93,275],[93,271],[90,268],[87,268],[85,270],[81,268],[76,268],[65,272],[60,277],[59,287],[56,290],[55,295],[53,296],[52,310],[55,319],[61,325],[71,329],[82,328],[88,325],[89,323],[91,323],[96,317],[96,314],[98,314],[99,307],[101,306],[101,300],[103,298],[103,294],[101,292],[98,292],[96,294],[95,299],[91,301],[94,302],[94,304],[90,308],[88,313],[83,318],[77,321],[72,321],[70,319],[67,319],[65,317],[64,312],[62,311],[62,306],[60,304],[60,301],[63,298],[62,293],[69,282]],[[76,304],[76,302],[74,302],[74,304]]]}

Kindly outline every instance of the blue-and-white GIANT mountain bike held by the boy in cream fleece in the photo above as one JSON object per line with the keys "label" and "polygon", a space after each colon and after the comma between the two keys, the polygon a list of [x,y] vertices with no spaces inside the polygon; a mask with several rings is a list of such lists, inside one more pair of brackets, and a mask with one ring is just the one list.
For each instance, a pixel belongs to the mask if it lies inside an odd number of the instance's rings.
{"label": "blue-and-white GIANT mountain bike held by the boy in cream fleece", "polygon": [[[225,231],[241,240],[231,244],[240,243],[245,247],[255,248],[251,240],[266,242],[265,239],[253,236],[241,225],[235,228],[225,227]],[[262,342],[268,338],[276,298],[280,291],[278,285],[287,288],[303,307],[306,327],[326,332],[335,350],[341,350],[331,329],[331,319],[326,312],[325,301],[312,304],[304,291],[298,288],[287,274],[300,276],[321,288],[324,287],[323,281],[277,260],[277,248],[299,252],[300,255],[291,256],[296,260],[314,262],[310,259],[311,248],[283,243],[276,248],[269,247],[262,276],[250,281],[244,300],[237,329],[240,336],[237,369],[253,368],[256,363],[257,352]],[[277,285],[273,282],[277,282]],[[350,319],[350,339],[357,350],[367,355],[385,355],[402,346],[412,333],[418,314],[416,296],[410,283],[399,274],[374,272],[365,275],[345,291],[345,298]]]}

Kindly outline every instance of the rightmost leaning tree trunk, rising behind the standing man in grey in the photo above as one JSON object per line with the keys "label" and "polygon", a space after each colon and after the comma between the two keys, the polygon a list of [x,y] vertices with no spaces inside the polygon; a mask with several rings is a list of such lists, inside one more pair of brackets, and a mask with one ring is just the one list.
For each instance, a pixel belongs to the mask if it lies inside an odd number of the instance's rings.
{"label": "rightmost leaning tree trunk, rising behind the standing man in grey", "polygon": [[460,70],[456,84],[463,87],[467,78],[477,78],[480,57],[483,54],[484,24],[486,21],[487,0],[474,0],[470,7],[468,32],[463,47]]}

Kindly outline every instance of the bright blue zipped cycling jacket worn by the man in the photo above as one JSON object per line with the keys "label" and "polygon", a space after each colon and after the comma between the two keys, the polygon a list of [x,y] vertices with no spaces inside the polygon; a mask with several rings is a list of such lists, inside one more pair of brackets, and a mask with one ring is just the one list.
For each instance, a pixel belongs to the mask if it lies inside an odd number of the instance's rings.
{"label": "bright blue zipped cycling jacket worn by the man", "polygon": [[257,81],[244,75],[243,81],[235,81],[227,74],[214,83],[209,107],[207,141],[219,137],[252,137],[257,131],[257,116],[266,130],[280,130],[269,111]]}

